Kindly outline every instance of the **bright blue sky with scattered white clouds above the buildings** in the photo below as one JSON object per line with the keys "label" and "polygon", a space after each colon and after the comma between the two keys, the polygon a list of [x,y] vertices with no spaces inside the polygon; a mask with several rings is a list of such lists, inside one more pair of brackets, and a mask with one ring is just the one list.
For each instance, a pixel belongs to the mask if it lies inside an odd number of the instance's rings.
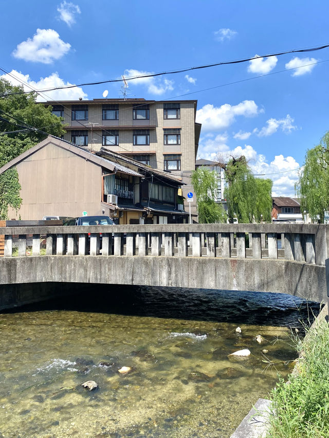
{"label": "bright blue sky with scattered white clouds above the buildings", "polygon": [[[37,89],[329,43],[324,0],[0,0],[0,6],[0,67]],[[329,130],[328,60],[326,48],[136,79],[128,97],[197,99],[198,158],[245,154],[254,174],[273,180],[273,195],[293,196],[294,169]],[[117,98],[120,86],[48,92],[44,100],[101,98],[105,89]]]}

